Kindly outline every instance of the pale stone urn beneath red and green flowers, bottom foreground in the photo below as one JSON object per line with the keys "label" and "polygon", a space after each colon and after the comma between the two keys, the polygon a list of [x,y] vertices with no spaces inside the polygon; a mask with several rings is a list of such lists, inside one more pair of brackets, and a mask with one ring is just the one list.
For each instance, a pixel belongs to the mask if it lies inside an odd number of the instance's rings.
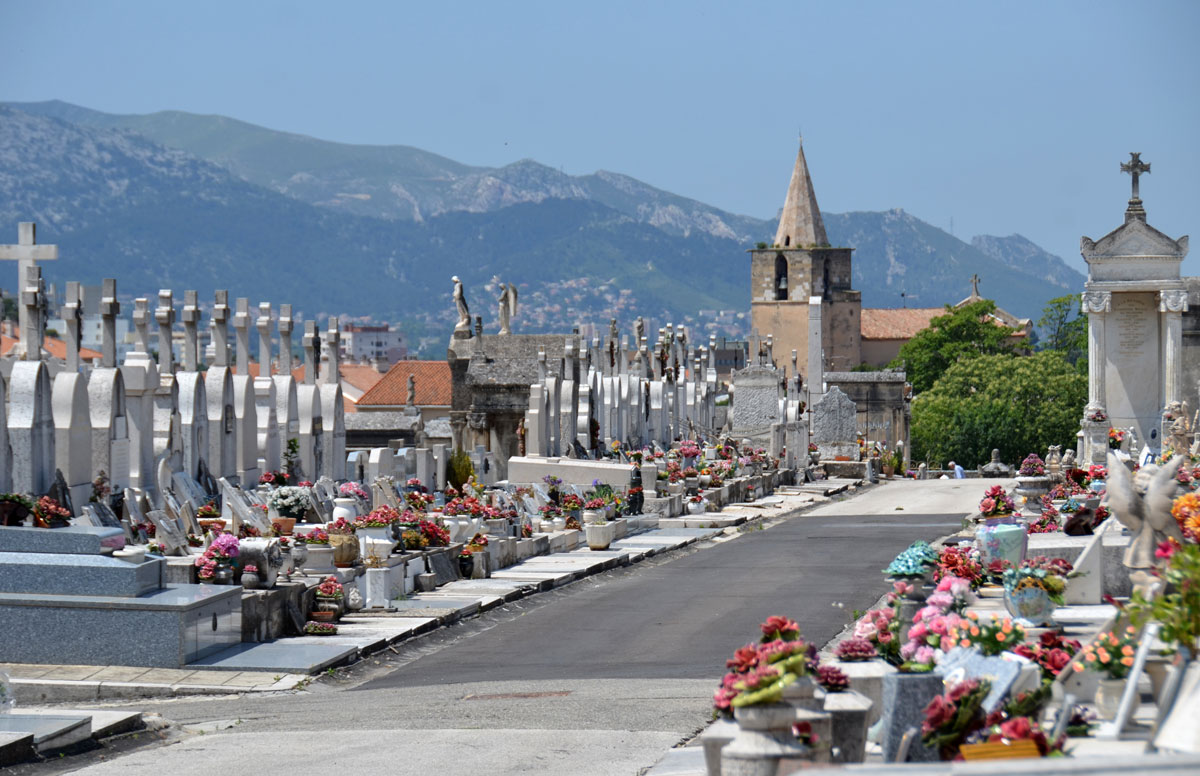
{"label": "pale stone urn beneath red and green flowers, bottom foreground", "polygon": [[781,760],[811,759],[814,750],[796,740],[796,706],[763,703],[733,710],[738,730],[721,750],[722,776],[775,776]]}

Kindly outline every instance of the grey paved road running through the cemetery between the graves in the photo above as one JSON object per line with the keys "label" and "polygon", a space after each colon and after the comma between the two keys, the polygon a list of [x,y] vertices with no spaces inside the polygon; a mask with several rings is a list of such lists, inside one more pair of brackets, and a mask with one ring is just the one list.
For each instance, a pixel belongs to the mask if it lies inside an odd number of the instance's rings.
{"label": "grey paved road running through the cemetery between the graves", "polygon": [[636,774],[703,727],[726,657],[767,615],[823,644],[886,591],[880,570],[896,552],[956,530],[979,489],[884,483],[517,601],[310,692],[140,704],[206,732],[54,770]]}

